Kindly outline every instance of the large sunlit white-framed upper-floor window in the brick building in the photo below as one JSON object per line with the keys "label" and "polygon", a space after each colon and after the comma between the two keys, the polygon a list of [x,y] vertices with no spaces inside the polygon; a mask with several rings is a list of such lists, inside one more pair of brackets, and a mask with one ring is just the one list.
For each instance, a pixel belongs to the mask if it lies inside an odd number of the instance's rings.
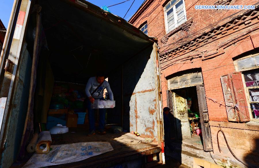
{"label": "large sunlit white-framed upper-floor window in the brick building", "polygon": [[184,0],[172,0],[164,8],[167,33],[187,20]]}

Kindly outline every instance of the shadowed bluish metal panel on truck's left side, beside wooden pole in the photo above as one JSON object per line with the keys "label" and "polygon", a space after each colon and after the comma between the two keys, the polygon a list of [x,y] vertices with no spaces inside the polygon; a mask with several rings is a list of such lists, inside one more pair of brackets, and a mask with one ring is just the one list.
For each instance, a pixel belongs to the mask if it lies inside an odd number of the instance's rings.
{"label": "shadowed bluish metal panel on truck's left side, beside wooden pole", "polygon": [[23,48],[23,53],[20,57],[20,66],[17,73],[17,85],[14,86],[14,96],[12,104],[9,106],[11,113],[9,116],[8,134],[5,138],[5,150],[3,151],[3,162],[12,164],[18,155],[24,121],[27,112],[28,94],[31,77],[32,60],[26,49]]}

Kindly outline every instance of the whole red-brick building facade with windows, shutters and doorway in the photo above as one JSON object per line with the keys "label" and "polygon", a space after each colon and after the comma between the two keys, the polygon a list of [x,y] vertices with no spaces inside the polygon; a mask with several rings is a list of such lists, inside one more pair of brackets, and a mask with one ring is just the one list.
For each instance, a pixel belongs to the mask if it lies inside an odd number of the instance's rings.
{"label": "whole red-brick building facade with windows, shutters and doorway", "polygon": [[[255,9],[197,10],[195,5],[255,5]],[[172,109],[182,136],[186,129],[181,119],[190,117],[179,111],[185,102],[186,111],[196,108],[202,113],[203,147],[213,150],[218,164],[245,167],[233,157],[222,133],[217,141],[221,129],[236,157],[258,167],[258,1],[146,0],[129,22],[140,29],[146,25],[148,36],[158,38],[163,107]]]}

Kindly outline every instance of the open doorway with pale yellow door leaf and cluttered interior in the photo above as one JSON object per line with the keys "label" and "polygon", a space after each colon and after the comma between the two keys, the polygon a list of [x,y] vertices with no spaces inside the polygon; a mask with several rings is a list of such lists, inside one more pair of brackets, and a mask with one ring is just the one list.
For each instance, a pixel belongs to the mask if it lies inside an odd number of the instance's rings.
{"label": "open doorway with pale yellow door leaf and cluttered interior", "polygon": [[177,140],[203,145],[196,86],[174,89],[171,92],[175,137]]}

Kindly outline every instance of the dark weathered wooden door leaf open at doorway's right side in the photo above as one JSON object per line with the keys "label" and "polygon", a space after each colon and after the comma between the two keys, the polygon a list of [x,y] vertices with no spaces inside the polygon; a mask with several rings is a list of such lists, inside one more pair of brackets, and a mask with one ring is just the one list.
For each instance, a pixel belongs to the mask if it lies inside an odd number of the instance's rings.
{"label": "dark weathered wooden door leaf open at doorway's right side", "polygon": [[199,103],[199,112],[200,112],[200,122],[201,122],[201,132],[203,139],[203,150],[212,151],[212,140],[210,134],[210,125],[209,125],[209,115],[207,102],[205,97],[205,89],[204,85],[199,84],[196,86],[197,88],[197,96]]}

